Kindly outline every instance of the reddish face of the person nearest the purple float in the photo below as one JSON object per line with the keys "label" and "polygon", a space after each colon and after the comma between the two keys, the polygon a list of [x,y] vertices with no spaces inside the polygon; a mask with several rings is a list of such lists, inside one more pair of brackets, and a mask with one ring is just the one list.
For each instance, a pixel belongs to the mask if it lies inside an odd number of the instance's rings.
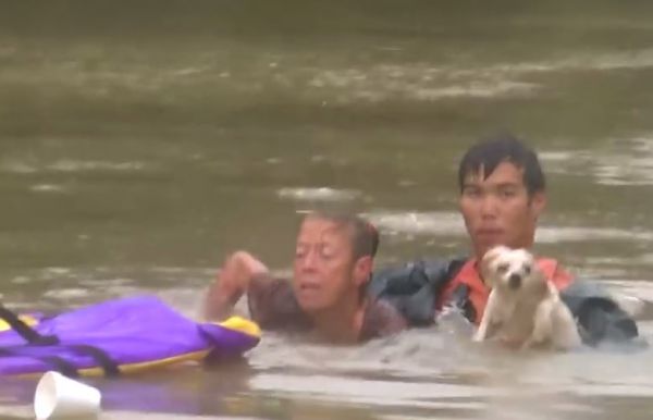
{"label": "reddish face of the person nearest the purple float", "polygon": [[310,313],[357,299],[355,262],[346,227],[319,218],[305,219],[297,236],[293,277],[301,309]]}

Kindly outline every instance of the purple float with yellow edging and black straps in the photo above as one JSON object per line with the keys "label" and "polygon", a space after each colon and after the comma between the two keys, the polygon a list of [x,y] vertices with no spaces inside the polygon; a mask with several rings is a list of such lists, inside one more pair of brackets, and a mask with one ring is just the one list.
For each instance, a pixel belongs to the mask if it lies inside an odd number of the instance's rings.
{"label": "purple float with yellow edging and black straps", "polygon": [[133,373],[209,354],[238,356],[260,339],[251,321],[198,323],[153,296],[108,300],[36,324],[0,306],[0,319],[9,328],[0,331],[0,375]]}

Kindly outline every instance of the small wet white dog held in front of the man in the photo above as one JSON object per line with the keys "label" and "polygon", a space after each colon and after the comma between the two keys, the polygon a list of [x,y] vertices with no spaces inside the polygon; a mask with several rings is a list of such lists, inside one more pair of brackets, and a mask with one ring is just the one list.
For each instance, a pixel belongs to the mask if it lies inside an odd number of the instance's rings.
{"label": "small wet white dog held in front of the man", "polygon": [[480,270],[492,291],[475,341],[496,336],[521,348],[580,346],[571,312],[529,251],[494,247],[481,260]]}

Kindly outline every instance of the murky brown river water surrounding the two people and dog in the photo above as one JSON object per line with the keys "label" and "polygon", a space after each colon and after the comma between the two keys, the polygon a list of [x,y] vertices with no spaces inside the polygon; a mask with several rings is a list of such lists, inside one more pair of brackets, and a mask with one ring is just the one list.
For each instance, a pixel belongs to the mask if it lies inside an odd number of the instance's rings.
{"label": "murky brown river water surrounding the two people and dog", "polygon": [[[500,131],[549,175],[538,251],[653,301],[652,79],[649,2],[5,4],[2,302],[151,293],[194,317],[232,250],[287,272],[316,206],[371,218],[380,265],[466,254],[457,162]],[[648,419],[653,349],[517,355],[449,319],[94,383],[106,419]],[[0,417],[33,391],[2,380]]]}

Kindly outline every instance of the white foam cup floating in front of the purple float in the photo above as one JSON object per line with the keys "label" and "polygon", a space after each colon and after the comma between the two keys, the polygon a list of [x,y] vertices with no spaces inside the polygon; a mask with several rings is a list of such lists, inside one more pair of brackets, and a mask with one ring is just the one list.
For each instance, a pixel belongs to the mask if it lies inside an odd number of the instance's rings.
{"label": "white foam cup floating in front of the purple float", "polygon": [[34,413],[38,420],[95,418],[100,411],[100,400],[97,388],[50,371],[36,385]]}

